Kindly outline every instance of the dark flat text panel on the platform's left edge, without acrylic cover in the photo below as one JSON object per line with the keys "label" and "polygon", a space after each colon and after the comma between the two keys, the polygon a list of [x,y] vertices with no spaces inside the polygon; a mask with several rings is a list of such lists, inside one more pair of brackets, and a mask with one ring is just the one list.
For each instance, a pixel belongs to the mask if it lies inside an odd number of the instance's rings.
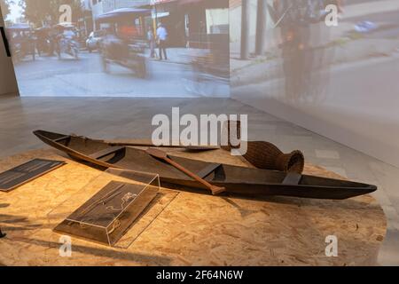
{"label": "dark flat text panel on the platform's left edge, without acrylic cover", "polygon": [[58,169],[66,162],[34,159],[0,173],[0,192],[8,193],[20,185]]}

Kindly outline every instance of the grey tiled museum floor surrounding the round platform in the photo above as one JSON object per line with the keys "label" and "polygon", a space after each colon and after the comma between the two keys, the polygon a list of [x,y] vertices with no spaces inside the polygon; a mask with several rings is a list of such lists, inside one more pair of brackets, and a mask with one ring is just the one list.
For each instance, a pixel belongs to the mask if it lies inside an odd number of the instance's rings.
{"label": "grey tiled museum floor surrounding the round platform", "polygon": [[0,159],[42,148],[32,130],[54,130],[90,138],[151,138],[155,114],[248,114],[249,138],[275,143],[284,151],[301,149],[307,160],[341,176],[379,186],[374,196],[388,221],[379,264],[399,264],[399,169],[331,139],[282,121],[231,99],[0,99]]}

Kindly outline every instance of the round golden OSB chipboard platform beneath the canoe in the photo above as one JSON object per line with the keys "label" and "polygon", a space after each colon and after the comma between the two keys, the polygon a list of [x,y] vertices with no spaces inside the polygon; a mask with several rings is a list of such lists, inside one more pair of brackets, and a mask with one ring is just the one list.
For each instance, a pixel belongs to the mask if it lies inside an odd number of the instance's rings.
{"label": "round golden OSB chipboard platform beneath the canoe", "polygon": [[[176,154],[176,153],[175,153]],[[184,155],[184,153],[178,153]],[[199,159],[245,165],[216,150]],[[269,197],[244,200],[173,194],[129,248],[73,238],[71,257],[59,256],[56,224],[47,215],[101,172],[52,149],[0,162],[8,170],[32,158],[67,164],[12,193],[0,194],[0,264],[5,265],[355,265],[375,264],[386,218],[370,195],[346,201]],[[307,174],[338,177],[307,165]],[[137,230],[133,227],[132,230]],[[141,229],[140,229],[141,230]],[[141,232],[141,231],[140,231]],[[325,237],[338,237],[338,256],[325,256]]]}

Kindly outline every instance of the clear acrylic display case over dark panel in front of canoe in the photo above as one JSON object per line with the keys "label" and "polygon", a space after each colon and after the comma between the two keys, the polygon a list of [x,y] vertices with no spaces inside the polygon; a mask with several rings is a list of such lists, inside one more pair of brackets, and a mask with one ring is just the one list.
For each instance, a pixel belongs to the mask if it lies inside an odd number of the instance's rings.
{"label": "clear acrylic display case over dark panel in front of canoe", "polygon": [[156,174],[108,169],[53,209],[48,220],[55,233],[129,248],[173,200],[160,203],[162,195]]}

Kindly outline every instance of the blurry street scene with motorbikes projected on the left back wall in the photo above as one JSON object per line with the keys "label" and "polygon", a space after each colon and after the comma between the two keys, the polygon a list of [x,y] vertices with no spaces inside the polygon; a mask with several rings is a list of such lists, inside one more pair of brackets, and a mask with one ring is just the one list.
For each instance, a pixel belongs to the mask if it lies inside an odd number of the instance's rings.
{"label": "blurry street scene with motorbikes projected on the left back wall", "polygon": [[21,96],[230,97],[228,1],[0,2]]}

